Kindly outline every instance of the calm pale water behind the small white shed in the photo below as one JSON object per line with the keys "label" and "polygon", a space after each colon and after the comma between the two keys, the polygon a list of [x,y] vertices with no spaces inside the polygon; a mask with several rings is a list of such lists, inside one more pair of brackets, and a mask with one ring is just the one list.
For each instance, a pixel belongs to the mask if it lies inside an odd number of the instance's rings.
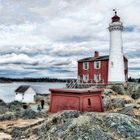
{"label": "calm pale water behind the small white shed", "polygon": [[5,102],[14,101],[15,90],[20,85],[30,85],[37,93],[50,93],[50,88],[63,88],[65,83],[60,82],[13,82],[13,83],[0,83],[0,99]]}

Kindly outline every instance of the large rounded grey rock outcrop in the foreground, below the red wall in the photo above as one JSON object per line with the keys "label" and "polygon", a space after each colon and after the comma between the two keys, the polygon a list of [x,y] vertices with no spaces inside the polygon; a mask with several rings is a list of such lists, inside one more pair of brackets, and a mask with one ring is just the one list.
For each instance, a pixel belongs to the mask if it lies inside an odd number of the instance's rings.
{"label": "large rounded grey rock outcrop in the foreground, below the red wall", "polygon": [[12,137],[34,140],[138,140],[140,121],[119,113],[63,111],[46,118],[40,125],[13,129]]}

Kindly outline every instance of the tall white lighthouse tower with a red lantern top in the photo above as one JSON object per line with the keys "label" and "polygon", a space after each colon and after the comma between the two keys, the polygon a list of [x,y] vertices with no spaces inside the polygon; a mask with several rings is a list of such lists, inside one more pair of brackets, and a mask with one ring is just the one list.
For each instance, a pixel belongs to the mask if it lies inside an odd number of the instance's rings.
{"label": "tall white lighthouse tower with a red lantern top", "polygon": [[124,58],[123,58],[123,44],[122,44],[122,30],[123,24],[117,12],[112,17],[112,22],[109,24],[110,31],[110,51],[109,51],[109,83],[125,82],[124,73]]}

